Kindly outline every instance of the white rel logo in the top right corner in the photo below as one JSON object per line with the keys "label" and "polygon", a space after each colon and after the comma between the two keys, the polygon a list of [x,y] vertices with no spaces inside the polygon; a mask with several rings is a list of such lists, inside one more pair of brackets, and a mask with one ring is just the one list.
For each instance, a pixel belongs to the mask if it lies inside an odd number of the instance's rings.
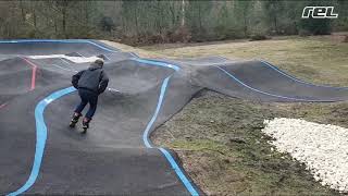
{"label": "white rel logo in the top right corner", "polygon": [[306,7],[302,19],[337,19],[338,13],[334,13],[334,7]]}

